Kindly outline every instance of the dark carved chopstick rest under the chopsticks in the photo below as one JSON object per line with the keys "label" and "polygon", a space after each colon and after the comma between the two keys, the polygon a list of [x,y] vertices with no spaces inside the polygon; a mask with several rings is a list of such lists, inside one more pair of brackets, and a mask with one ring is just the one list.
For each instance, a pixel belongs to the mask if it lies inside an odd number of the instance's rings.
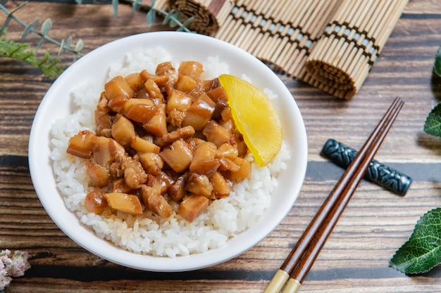
{"label": "dark carved chopstick rest under the chopsticks", "polygon": [[[328,139],[323,145],[321,154],[338,166],[346,168],[356,156],[357,151],[343,143]],[[406,195],[412,183],[412,178],[409,176],[375,159],[371,162],[364,178],[402,196]]]}

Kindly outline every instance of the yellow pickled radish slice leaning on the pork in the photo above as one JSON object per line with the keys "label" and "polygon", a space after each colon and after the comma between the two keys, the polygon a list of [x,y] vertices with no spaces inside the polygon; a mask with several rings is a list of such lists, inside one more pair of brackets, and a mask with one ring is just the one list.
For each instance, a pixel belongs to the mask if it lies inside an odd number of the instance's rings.
{"label": "yellow pickled radish slice leaning on the pork", "polygon": [[219,82],[227,93],[237,130],[259,166],[266,166],[278,154],[283,139],[274,104],[266,93],[244,79],[222,74]]}

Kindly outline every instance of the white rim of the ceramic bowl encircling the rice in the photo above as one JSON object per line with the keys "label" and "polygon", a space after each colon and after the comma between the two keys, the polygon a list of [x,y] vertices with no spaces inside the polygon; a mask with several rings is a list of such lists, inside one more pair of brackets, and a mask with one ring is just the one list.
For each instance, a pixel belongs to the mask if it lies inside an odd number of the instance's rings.
{"label": "white rim of the ceramic bowl encircling the rice", "polygon": [[[168,43],[173,44],[173,41],[170,41],[171,39],[173,39],[175,42],[199,42],[199,44],[204,44],[209,48],[213,48],[214,46],[219,48],[227,56],[230,56],[232,53],[231,55],[234,56],[233,59],[238,60],[238,62],[240,61],[247,65],[252,65],[252,67],[261,70],[260,74],[264,75],[265,77],[271,77],[271,82],[280,87],[278,91],[283,93],[282,96],[285,96],[285,98],[283,98],[283,102],[287,104],[287,108],[290,108],[290,113],[292,114],[291,117],[286,117],[286,119],[287,122],[290,124],[292,123],[292,136],[295,136],[295,138],[298,139],[297,144],[295,145],[298,154],[296,156],[295,168],[297,170],[294,171],[294,177],[297,178],[297,182],[290,183],[290,193],[292,197],[284,203],[278,203],[278,206],[280,207],[277,214],[271,217],[266,216],[266,218],[268,218],[266,221],[259,221],[259,230],[251,227],[248,230],[240,233],[240,235],[228,240],[223,247],[211,249],[201,254],[177,256],[176,258],[135,254],[117,247],[116,245],[113,245],[113,243],[106,240],[99,240],[99,237],[97,237],[94,232],[90,230],[90,228],[82,225],[80,223],[80,219],[78,219],[73,212],[67,209],[66,204],[64,204],[64,201],[61,198],[51,199],[49,197],[50,194],[54,194],[54,188],[56,189],[56,187],[51,186],[51,184],[48,185],[48,178],[47,174],[45,173],[45,171],[48,171],[48,167],[50,166],[49,168],[51,169],[51,174],[53,175],[50,162],[51,159],[49,157],[39,155],[38,152],[39,149],[46,151],[49,149],[50,155],[50,146],[48,142],[49,133],[47,130],[49,129],[50,131],[52,124],[44,124],[42,121],[48,118],[47,112],[49,108],[51,108],[51,103],[54,103],[55,101],[54,96],[62,91],[62,88],[66,86],[66,79],[73,77],[77,70],[80,72],[84,71],[83,68],[87,68],[89,63],[94,64],[94,60],[101,60],[99,59],[100,56],[102,58],[102,56],[112,52],[120,53],[122,51],[127,51],[126,48],[132,49],[132,46],[141,46],[141,44],[146,44],[149,41],[166,40],[165,42],[168,46]],[[101,64],[101,66],[104,65]],[[287,95],[289,95],[290,98],[286,98]],[[51,119],[56,121],[58,118]],[[71,240],[89,252],[92,252],[92,254],[96,254],[102,259],[106,259],[107,261],[111,261],[113,263],[118,263],[122,266],[136,268],[142,271],[178,272],[206,268],[233,259],[236,256],[246,252],[248,249],[251,249],[251,247],[257,245],[261,240],[263,240],[263,238],[271,233],[280,224],[280,222],[285,219],[285,216],[287,216],[289,211],[292,209],[295,200],[297,200],[297,195],[299,195],[302,188],[306,175],[308,143],[302,114],[300,113],[292,94],[282,80],[269,67],[264,65],[261,60],[251,56],[251,54],[237,46],[229,44],[228,42],[202,34],[192,34],[187,32],[147,32],[135,34],[130,37],[123,37],[122,39],[117,39],[109,42],[108,44],[95,48],[93,51],[90,51],[89,53],[85,54],[85,56],[73,63],[73,65],[70,65],[70,67],[68,67],[66,71],[63,72],[58,79],[56,79],[54,84],[51,85],[50,89],[46,92],[44,98],[42,99],[32,122],[28,154],[30,176],[32,178],[35,192],[37,193],[40,202],[51,217],[52,221],[54,221],[58,228],[60,228],[63,233],[68,235]],[[53,179],[55,182],[55,178]],[[58,189],[56,189],[56,191],[58,193]],[[58,193],[58,195],[59,197],[62,197],[61,194]],[[54,204],[54,202],[52,202],[53,200],[56,200],[57,204]],[[59,207],[60,200],[63,202],[63,207]],[[273,206],[273,202],[271,202],[271,206]],[[271,206],[268,208],[268,210],[271,209]],[[266,214],[268,214],[268,210],[266,211]],[[69,211],[70,214],[66,214],[66,211]],[[70,223],[70,221],[73,221],[74,218],[76,219],[78,225],[72,225]],[[98,241],[89,241],[90,235],[94,235]],[[249,242],[240,241],[242,238],[249,240]]]}

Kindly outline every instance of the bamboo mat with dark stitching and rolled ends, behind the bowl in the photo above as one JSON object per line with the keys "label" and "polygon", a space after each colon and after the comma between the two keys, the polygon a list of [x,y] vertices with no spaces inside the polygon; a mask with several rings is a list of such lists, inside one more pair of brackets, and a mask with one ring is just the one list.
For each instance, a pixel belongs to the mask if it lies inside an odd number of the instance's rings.
{"label": "bamboo mat with dark stitching and rolled ends, behind the bowl", "polygon": [[156,0],[338,98],[361,88],[409,0]]}

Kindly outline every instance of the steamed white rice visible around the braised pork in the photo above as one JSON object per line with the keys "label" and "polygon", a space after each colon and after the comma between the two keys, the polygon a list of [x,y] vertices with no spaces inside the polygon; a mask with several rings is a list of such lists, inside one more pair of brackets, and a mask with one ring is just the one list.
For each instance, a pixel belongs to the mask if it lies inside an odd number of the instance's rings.
{"label": "steamed white rice visible around the braised pork", "polygon": [[[173,62],[173,56],[163,48],[128,53],[124,64],[110,66],[108,79],[143,69],[154,72],[157,64],[170,60]],[[209,58],[203,64],[206,79],[228,73],[228,65],[219,62],[218,58]],[[173,65],[178,68],[178,64]],[[221,247],[256,224],[271,204],[278,173],[287,167],[290,154],[285,144],[267,167],[261,168],[251,162],[251,177],[235,184],[229,197],[214,201],[208,211],[192,223],[178,214],[171,219],[161,219],[148,210],[139,216],[123,212],[110,216],[89,213],[83,205],[85,196],[92,189],[87,184],[86,160],[68,155],[66,148],[69,138],[81,129],[94,130],[94,110],[103,86],[94,81],[79,86],[73,93],[73,114],[58,120],[51,131],[51,159],[57,187],[68,209],[82,224],[94,230],[98,237],[130,252],[169,257]],[[271,92],[266,92],[274,98]],[[173,208],[177,210],[178,207]]]}

